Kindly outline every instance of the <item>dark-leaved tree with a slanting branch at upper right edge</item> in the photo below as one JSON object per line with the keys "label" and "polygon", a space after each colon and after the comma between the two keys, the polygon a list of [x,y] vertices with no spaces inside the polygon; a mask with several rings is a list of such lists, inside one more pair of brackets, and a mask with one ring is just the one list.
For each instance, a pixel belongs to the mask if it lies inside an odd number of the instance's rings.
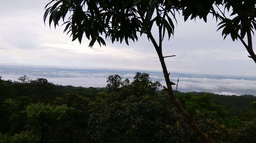
{"label": "dark-leaved tree with a slanting branch at upper right edge", "polygon": [[[207,15],[212,14],[219,21],[218,30],[222,29],[224,39],[240,40],[248,53],[248,57],[256,63],[253,51],[252,34],[256,31],[256,1],[255,0],[181,0],[179,9],[186,21],[199,17],[207,21]],[[247,40],[247,42],[246,42]]]}

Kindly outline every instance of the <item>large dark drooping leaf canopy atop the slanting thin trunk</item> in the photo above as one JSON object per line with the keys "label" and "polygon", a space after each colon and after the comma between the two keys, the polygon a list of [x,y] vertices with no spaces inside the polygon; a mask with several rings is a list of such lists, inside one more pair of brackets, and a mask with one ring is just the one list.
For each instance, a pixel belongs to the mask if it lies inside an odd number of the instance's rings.
{"label": "large dark drooping leaf canopy atop the slanting thin trunk", "polygon": [[[54,3],[53,3],[54,2]],[[153,23],[162,26],[168,37],[174,33],[174,23],[168,13],[174,16],[173,1],[51,1],[46,6],[44,20],[49,16],[49,24],[58,25],[60,19],[65,21],[64,32],[71,33],[72,41],[81,43],[83,34],[91,40],[92,47],[97,41],[105,45],[105,39],[129,44],[129,39],[138,40],[140,35],[150,36]],[[156,15],[154,14],[156,12]],[[69,18],[66,18],[70,14]]]}

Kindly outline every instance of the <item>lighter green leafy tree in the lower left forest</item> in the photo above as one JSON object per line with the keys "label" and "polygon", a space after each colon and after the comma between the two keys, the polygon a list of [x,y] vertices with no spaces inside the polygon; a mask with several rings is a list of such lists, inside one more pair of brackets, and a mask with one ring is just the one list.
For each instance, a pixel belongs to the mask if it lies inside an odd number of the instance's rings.
{"label": "lighter green leafy tree in the lower left forest", "polygon": [[27,116],[28,127],[31,131],[40,136],[40,143],[64,142],[72,136],[72,130],[65,129],[69,126],[66,118],[74,112],[72,107],[67,107],[65,104],[50,105],[48,103],[45,105],[38,102],[27,105],[22,112]]}

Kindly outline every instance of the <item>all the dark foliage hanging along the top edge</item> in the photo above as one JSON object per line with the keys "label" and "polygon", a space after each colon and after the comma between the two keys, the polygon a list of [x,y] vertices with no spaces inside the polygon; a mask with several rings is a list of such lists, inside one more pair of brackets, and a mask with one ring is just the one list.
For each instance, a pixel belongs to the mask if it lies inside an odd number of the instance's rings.
{"label": "all the dark foliage hanging along the top edge", "polygon": [[[64,32],[71,33],[73,41],[81,43],[83,34],[91,40],[89,46],[97,41],[105,45],[106,39],[122,43],[125,40],[138,40],[137,32],[150,36],[153,23],[163,27],[168,37],[174,34],[174,23],[169,15],[175,18],[175,11],[182,10],[186,21],[199,17],[207,21],[208,14],[220,19],[218,30],[223,28],[224,39],[230,35],[232,40],[244,39],[246,33],[254,33],[255,1],[229,0],[168,0],[168,1],[51,1],[46,6],[44,20],[49,16],[49,24],[58,25],[60,19],[65,21]],[[232,12],[230,12],[232,11]],[[229,13],[230,12],[230,13]],[[229,16],[226,14],[229,13]],[[69,18],[66,16],[69,15]],[[163,35],[164,37],[164,35]]]}

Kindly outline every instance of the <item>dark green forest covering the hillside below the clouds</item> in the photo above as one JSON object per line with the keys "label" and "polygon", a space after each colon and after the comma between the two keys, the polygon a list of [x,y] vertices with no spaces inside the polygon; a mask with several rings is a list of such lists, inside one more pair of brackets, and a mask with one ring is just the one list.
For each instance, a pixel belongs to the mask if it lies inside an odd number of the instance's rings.
{"label": "dark green forest covering the hillside below the clouds", "polygon": [[[0,143],[201,142],[158,81],[110,75],[105,88],[0,78]],[[256,142],[256,97],[174,91],[215,142]]]}

